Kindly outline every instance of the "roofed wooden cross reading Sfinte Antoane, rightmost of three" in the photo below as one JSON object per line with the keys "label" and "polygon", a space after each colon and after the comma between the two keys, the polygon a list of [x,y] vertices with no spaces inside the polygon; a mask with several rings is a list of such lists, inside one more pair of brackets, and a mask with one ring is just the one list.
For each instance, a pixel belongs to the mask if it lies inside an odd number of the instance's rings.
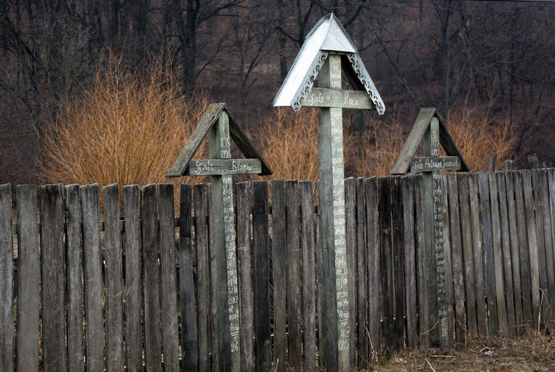
{"label": "roofed wooden cross reading Sfinte Antoane, rightmost of three", "polygon": [[[415,157],[420,144],[422,157]],[[447,156],[440,156],[440,144]],[[422,172],[424,188],[427,302],[428,319],[432,327],[430,341],[432,346],[449,350],[453,345],[453,328],[447,321],[446,294],[451,287],[445,280],[448,268],[445,267],[445,205],[440,171],[468,171],[468,166],[435,108],[420,110],[391,174],[406,174],[409,168],[411,173]]]}

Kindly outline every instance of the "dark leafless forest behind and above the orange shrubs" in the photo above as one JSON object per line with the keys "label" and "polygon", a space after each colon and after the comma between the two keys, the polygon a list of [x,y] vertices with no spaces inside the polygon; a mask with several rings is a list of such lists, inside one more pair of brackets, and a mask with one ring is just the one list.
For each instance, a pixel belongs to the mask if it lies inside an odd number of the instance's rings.
{"label": "dark leafless forest behind and above the orange shrubs", "polygon": [[[418,110],[469,103],[506,115],[528,153],[555,164],[555,3],[454,0],[0,0],[0,183],[37,183],[37,144],[108,51],[130,71],[152,56],[180,92],[210,92],[257,136],[302,41],[334,12],[388,117],[407,133]],[[372,115],[376,115],[373,113]],[[356,136],[367,128],[353,126]],[[493,123],[495,125],[495,123]]]}

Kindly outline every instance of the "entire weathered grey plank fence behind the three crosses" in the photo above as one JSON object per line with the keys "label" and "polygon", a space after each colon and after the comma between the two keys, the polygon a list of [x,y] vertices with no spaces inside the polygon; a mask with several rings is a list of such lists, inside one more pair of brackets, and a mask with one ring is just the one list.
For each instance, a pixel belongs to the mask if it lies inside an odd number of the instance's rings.
{"label": "entire weathered grey plank fence behind the three crosses", "polygon": [[[428,345],[420,176],[345,180],[353,366]],[[450,337],[554,319],[555,169],[442,175]],[[241,370],[318,368],[309,181],[235,185]],[[218,369],[207,185],[0,187],[1,371]],[[121,218],[121,205],[123,216]],[[17,243],[17,244],[14,244]],[[14,249],[17,246],[17,249]],[[16,251],[14,253],[14,251]],[[13,259],[14,255],[17,257]]]}

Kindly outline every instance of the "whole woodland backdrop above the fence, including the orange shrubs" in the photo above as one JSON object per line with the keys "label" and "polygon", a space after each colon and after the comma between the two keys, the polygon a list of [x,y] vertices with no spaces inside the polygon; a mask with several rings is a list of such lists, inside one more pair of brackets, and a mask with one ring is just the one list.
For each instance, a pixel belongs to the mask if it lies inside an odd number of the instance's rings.
{"label": "whole woodland backdrop above the fence, including the orange shrubs", "polygon": [[277,178],[314,179],[317,113],[271,103],[329,12],[386,104],[345,115],[347,176],[387,174],[422,107],[440,110],[473,171],[494,153],[498,169],[529,153],[555,164],[555,3],[0,0],[0,183],[165,182],[212,102]]}

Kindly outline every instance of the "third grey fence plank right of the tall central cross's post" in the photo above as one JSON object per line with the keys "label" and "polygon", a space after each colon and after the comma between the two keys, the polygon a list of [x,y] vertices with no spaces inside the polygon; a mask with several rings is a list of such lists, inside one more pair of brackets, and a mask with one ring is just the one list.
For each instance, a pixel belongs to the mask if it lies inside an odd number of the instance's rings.
{"label": "third grey fence plank right of the tall central cross's post", "polygon": [[377,360],[382,341],[382,287],[379,254],[379,216],[377,205],[377,178],[364,180],[366,194],[366,247],[368,262],[368,337],[370,357]]}

